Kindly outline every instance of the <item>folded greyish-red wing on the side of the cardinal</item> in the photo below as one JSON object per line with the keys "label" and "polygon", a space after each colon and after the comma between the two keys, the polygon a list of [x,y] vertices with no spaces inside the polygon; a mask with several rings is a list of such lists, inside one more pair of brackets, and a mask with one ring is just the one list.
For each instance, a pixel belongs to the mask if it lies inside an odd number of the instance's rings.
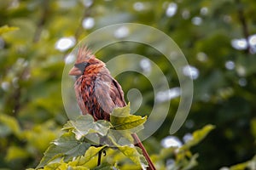
{"label": "folded greyish-red wing on the side of the cardinal", "polygon": [[122,88],[109,74],[97,77],[95,94],[98,104],[107,113],[111,113],[115,107],[125,106]]}

